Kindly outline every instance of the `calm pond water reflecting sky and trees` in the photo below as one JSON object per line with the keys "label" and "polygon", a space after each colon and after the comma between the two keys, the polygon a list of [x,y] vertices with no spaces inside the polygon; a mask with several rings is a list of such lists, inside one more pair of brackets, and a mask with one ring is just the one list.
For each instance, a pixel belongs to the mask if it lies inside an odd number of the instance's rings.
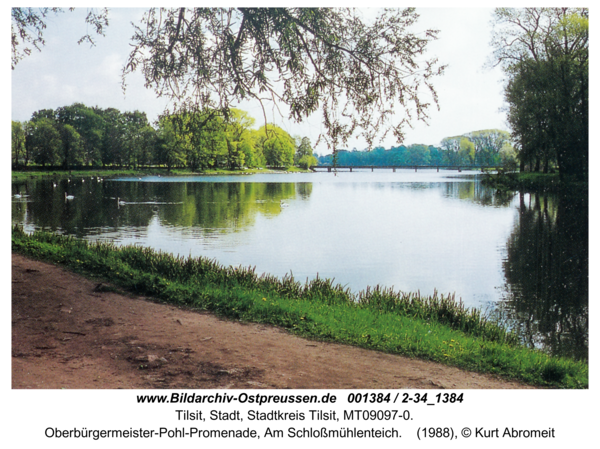
{"label": "calm pond water reflecting sky and trees", "polygon": [[27,231],[300,281],[318,275],[355,292],[454,293],[532,346],[587,358],[586,199],[500,194],[473,174],[433,170],[31,180],[12,189],[12,221]]}

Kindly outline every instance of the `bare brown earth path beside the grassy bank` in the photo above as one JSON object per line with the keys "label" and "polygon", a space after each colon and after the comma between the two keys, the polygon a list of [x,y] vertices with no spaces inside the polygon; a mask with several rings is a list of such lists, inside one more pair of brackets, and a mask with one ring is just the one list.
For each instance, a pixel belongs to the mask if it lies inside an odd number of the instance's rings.
{"label": "bare brown earth path beside the grassy bank", "polygon": [[13,388],[528,388],[97,285],[12,255]]}

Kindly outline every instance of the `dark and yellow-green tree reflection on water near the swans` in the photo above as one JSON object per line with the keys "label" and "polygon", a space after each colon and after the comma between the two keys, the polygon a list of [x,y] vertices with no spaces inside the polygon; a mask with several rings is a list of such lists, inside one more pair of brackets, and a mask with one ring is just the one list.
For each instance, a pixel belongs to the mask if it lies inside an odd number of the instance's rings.
{"label": "dark and yellow-green tree reflection on water near the swans", "polygon": [[[36,229],[83,237],[119,227],[145,228],[158,216],[166,225],[223,229],[231,232],[252,226],[256,214],[281,213],[280,201],[298,195],[307,199],[311,184],[293,183],[152,183],[98,182],[85,179],[32,180],[13,185],[27,201],[13,201],[13,222]],[[74,195],[65,201],[64,194]],[[119,205],[117,199],[124,201]]]}

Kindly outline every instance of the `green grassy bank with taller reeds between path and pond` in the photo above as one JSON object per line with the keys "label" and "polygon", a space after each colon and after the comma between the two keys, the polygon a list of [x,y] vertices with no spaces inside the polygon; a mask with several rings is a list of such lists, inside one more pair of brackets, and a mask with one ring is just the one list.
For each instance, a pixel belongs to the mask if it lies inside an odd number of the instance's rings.
{"label": "green grassy bank with taller reeds between path and pond", "polygon": [[518,345],[513,334],[452,297],[380,288],[353,294],[329,280],[259,276],[205,258],[12,232],[14,252],[60,263],[125,290],[308,338],[418,357],[557,388],[587,388],[588,366]]}

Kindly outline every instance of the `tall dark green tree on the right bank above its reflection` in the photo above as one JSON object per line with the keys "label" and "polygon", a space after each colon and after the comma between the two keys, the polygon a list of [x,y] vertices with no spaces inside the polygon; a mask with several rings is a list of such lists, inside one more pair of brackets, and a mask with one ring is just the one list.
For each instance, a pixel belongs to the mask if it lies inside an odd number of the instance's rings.
{"label": "tall dark green tree on the right bank above its reflection", "polygon": [[507,74],[508,119],[522,167],[585,179],[589,146],[589,22],[585,8],[495,10],[495,63]]}

